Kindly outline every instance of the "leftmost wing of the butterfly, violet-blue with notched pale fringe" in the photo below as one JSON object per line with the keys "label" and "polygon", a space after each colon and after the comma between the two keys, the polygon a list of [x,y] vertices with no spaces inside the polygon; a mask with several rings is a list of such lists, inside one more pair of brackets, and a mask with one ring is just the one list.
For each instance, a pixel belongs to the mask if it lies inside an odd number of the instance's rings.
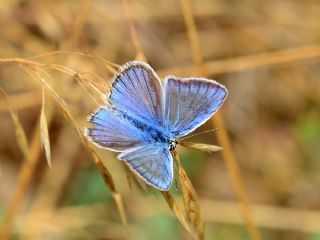
{"label": "leftmost wing of the butterfly, violet-blue with notched pale fringe", "polygon": [[85,129],[85,134],[98,147],[122,152],[148,140],[144,132],[114,109],[99,108],[88,120],[94,127]]}

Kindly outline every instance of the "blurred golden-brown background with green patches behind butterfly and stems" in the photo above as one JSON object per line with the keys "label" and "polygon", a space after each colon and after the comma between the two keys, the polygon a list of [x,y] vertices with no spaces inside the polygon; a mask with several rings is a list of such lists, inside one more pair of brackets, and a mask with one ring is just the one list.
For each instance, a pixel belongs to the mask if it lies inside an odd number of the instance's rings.
{"label": "blurred golden-brown background with green patches behind butterfly and stems", "polygon": [[[320,239],[320,1],[190,5],[209,76],[229,89],[220,112],[256,227],[263,239]],[[141,49],[161,77],[199,76],[178,0],[129,0],[127,7]],[[105,64],[53,51],[87,53],[119,65],[137,57],[118,0],[0,1],[0,29],[1,59],[65,66],[103,83],[102,92],[112,78]],[[116,155],[96,149],[123,197],[128,228],[123,227],[87,147],[47,94],[50,169],[40,143],[41,85],[21,64],[0,64],[9,102],[0,101],[0,223],[11,239],[189,239],[158,191],[128,181]],[[85,118],[97,103],[75,77],[48,72],[76,122],[88,126]],[[21,132],[8,106],[25,132],[27,154],[19,148]],[[196,132],[210,129],[208,122]],[[218,144],[216,134],[189,140]],[[222,154],[182,147],[178,152],[198,193],[206,239],[250,239]],[[174,186],[171,193],[181,195]]]}

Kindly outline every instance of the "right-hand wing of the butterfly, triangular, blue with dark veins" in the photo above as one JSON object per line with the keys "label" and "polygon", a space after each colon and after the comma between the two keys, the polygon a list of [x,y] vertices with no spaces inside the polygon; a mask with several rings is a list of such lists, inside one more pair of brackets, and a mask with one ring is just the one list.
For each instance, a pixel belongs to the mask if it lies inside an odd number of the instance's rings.
{"label": "right-hand wing of the butterfly, triangular, blue with dark veins", "polygon": [[227,89],[205,78],[167,77],[164,83],[165,129],[182,137],[205,123],[221,106]]}

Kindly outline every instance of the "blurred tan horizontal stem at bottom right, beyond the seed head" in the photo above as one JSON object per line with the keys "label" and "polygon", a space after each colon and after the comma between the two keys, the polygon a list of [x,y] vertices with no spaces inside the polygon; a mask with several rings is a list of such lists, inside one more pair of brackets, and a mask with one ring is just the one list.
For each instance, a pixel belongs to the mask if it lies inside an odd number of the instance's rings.
{"label": "blurred tan horizontal stem at bottom right, beyond the seed head", "polygon": [[[200,203],[207,209],[204,218],[209,222],[243,224],[239,204],[236,202],[200,199]],[[320,233],[319,211],[267,205],[252,205],[252,209],[260,227],[304,234]]]}

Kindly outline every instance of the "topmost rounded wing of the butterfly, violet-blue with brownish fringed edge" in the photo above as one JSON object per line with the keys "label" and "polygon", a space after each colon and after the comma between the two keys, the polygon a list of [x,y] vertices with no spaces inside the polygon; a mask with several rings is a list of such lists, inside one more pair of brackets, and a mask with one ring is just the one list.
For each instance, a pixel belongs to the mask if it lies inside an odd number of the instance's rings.
{"label": "topmost rounded wing of the butterfly, violet-blue with brownish fringed edge", "polygon": [[161,126],[163,96],[160,79],[145,63],[132,61],[119,70],[110,94],[110,102],[139,121]]}

